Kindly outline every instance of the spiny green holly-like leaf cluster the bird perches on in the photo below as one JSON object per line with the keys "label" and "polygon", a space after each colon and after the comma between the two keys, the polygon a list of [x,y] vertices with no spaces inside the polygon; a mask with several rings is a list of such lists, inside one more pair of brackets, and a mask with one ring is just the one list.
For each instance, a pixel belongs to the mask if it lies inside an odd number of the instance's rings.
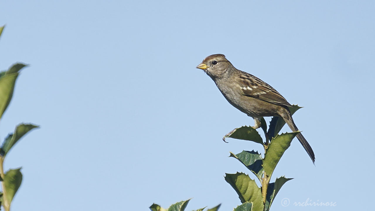
{"label": "spiny green holly-like leaf cluster the bird perches on", "polygon": [[[298,105],[293,105],[290,108],[293,114],[298,109]],[[264,157],[258,152],[253,151],[242,151],[238,154],[230,152],[229,157],[236,158],[243,165],[246,166],[252,172],[261,183],[261,187],[258,187],[254,179],[251,179],[249,175],[237,172],[235,174],[225,174],[225,181],[228,182],[236,193],[239,195],[240,201],[243,203],[234,210],[241,211],[269,211],[276,194],[279,192],[282,185],[292,178],[285,178],[284,176],[276,178],[275,182],[269,183],[273,171],[276,168],[279,160],[281,159],[284,152],[289,148],[291,141],[299,132],[279,134],[281,128],[285,125],[282,118],[273,117],[269,130],[267,131],[267,125],[264,118],[261,119],[261,128],[264,132],[265,141],[263,141],[261,135],[252,127],[243,126],[232,130],[230,133],[223,137],[234,138],[241,140],[248,140],[264,147]],[[276,135],[275,135],[276,134]]]}

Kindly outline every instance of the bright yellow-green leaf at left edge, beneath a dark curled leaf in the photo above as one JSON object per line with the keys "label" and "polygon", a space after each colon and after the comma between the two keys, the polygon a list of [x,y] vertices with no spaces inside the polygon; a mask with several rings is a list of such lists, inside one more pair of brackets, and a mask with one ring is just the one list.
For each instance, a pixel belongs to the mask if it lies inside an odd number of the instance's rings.
{"label": "bright yellow-green leaf at left edge, beneath a dark curled leaf", "polygon": [[13,96],[18,73],[5,74],[0,78],[0,118],[3,116]]}

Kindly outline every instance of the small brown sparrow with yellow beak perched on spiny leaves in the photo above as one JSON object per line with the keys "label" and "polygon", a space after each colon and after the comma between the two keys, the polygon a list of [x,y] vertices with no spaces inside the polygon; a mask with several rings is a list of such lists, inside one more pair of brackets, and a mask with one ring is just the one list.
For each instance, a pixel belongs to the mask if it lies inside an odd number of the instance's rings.
{"label": "small brown sparrow with yellow beak perched on spiny leaves", "polygon": [[[196,68],[211,77],[231,105],[254,119],[252,128],[260,128],[264,116],[279,116],[293,132],[299,131],[289,110],[292,105],[260,78],[235,68],[225,55],[207,56]],[[301,133],[296,136],[315,164],[314,151],[305,137]]]}

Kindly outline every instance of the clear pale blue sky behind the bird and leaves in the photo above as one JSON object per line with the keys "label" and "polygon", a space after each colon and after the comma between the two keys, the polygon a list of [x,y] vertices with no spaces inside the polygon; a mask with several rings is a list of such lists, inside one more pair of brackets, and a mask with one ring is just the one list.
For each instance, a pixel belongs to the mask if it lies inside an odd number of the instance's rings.
{"label": "clear pale blue sky behind the bird and leaves", "polygon": [[[229,151],[261,147],[221,140],[254,122],[195,69],[216,53],[304,107],[294,121],[316,166],[293,140],[272,181],[295,179],[273,210],[370,209],[374,9],[373,1],[1,2],[0,68],[30,66],[0,139],[20,122],[41,126],[5,161],[23,166],[13,210],[148,210],[191,197],[187,210],[239,205],[223,175],[248,170]],[[293,205],[306,200],[336,206]]]}

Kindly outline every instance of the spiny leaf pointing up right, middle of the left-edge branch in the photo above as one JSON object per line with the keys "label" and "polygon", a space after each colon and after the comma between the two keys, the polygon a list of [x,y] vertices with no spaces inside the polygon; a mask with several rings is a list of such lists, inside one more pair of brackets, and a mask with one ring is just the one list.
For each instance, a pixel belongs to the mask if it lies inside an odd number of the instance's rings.
{"label": "spiny leaf pointing up right, middle of the left-edge branch", "polygon": [[3,145],[1,146],[1,155],[5,156],[9,150],[12,148],[12,146],[17,143],[18,140],[21,139],[28,131],[38,128],[39,126],[37,125],[32,125],[32,124],[19,124],[14,130],[13,134],[9,134],[6,138],[5,141],[3,142]]}

